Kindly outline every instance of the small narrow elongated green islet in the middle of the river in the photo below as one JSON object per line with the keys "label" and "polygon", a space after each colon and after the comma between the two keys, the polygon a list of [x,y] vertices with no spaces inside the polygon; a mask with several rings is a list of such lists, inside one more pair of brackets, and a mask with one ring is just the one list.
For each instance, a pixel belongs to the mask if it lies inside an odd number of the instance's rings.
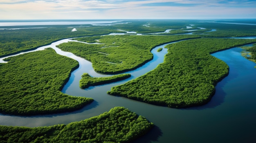
{"label": "small narrow elongated green islet in the middle of the river", "polygon": [[129,77],[131,77],[130,74],[113,75],[112,77],[91,77],[88,73],[84,73],[82,79],[79,81],[79,86],[80,88],[88,88],[89,86],[109,84]]}

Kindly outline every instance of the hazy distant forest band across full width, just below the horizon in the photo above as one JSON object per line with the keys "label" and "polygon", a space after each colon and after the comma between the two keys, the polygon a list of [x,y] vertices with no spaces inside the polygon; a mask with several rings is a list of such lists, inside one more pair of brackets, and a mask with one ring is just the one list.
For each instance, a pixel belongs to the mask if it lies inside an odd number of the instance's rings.
{"label": "hazy distant forest band across full width, just below the horizon", "polygon": [[[37,48],[38,46],[50,44],[56,40],[69,37],[124,33],[123,31],[118,31],[117,29],[125,31],[136,31],[137,33],[155,33],[164,32],[166,29],[175,29],[170,31],[170,33],[163,33],[163,35],[169,35],[189,33],[189,31],[184,31],[186,29],[182,28],[189,26],[189,24],[194,24],[194,26],[191,26],[191,29],[198,29],[198,27],[204,27],[206,29],[193,31],[193,33],[210,34],[211,37],[238,37],[256,35],[256,28],[253,25],[222,24],[212,21],[200,22],[199,20],[126,20],[124,22],[128,23],[117,24],[113,26],[91,26],[88,24],[48,25],[43,26],[45,28],[15,30],[7,29],[29,28],[31,26],[1,26],[1,28],[6,28],[6,30],[1,30],[0,34],[0,57],[19,53],[21,51],[29,51],[31,49]],[[76,28],[77,31],[71,32],[73,28]],[[217,29],[217,31],[214,33],[206,32],[210,29]]]}

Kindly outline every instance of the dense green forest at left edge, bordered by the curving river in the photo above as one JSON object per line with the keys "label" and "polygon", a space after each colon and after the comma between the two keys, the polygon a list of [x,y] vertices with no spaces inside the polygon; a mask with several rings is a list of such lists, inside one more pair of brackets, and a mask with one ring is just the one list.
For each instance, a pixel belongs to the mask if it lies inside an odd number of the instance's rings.
{"label": "dense green forest at left edge, bordered by the curving river", "polygon": [[74,59],[52,48],[9,57],[0,63],[0,112],[32,115],[77,110],[93,99],[73,97],[60,90],[78,68]]}

